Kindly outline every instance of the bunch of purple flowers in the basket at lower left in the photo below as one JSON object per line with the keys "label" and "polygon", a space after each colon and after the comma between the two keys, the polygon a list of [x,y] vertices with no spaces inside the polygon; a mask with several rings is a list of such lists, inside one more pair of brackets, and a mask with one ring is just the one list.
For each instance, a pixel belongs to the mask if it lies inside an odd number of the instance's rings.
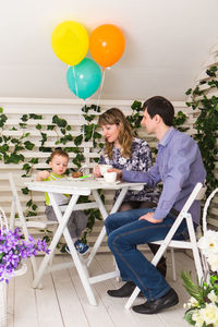
{"label": "bunch of purple flowers in the basket at lower left", "polygon": [[25,241],[20,228],[14,231],[2,228],[0,230],[0,282],[9,282],[23,259],[36,255],[38,252],[49,253],[46,241],[34,240],[29,235]]}

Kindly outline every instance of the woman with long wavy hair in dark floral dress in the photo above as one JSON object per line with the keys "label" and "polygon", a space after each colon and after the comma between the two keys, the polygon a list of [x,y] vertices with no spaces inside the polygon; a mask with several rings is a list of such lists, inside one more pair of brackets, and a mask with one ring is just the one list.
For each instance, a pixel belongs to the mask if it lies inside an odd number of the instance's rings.
{"label": "woman with long wavy hair in dark floral dress", "polygon": [[[111,165],[117,169],[147,171],[152,167],[150,148],[144,140],[135,137],[129,121],[120,109],[111,108],[100,114],[98,125],[106,138],[100,155],[99,165]],[[94,177],[100,177],[99,165],[94,168]],[[114,199],[120,191],[116,192]],[[159,190],[145,185],[142,191],[129,191],[119,210],[155,207],[159,198]],[[148,244],[155,254],[158,245]],[[157,265],[158,270],[166,276],[166,259],[162,257]]]}

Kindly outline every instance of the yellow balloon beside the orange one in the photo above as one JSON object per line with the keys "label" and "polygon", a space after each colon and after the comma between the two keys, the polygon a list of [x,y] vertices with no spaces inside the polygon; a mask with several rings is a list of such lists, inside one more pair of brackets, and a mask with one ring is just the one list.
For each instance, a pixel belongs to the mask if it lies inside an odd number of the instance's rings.
{"label": "yellow balloon beside the orange one", "polygon": [[87,31],[82,24],[73,21],[59,24],[51,35],[53,52],[69,65],[75,65],[83,60],[88,45]]}

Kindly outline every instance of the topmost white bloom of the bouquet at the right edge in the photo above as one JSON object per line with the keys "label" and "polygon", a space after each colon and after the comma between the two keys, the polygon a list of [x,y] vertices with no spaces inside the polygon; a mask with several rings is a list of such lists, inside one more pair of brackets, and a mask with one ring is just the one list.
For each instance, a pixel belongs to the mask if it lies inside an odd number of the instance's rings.
{"label": "topmost white bloom of the bouquet at the right edge", "polygon": [[197,242],[198,247],[205,256],[209,254],[218,254],[218,232],[208,230]]}

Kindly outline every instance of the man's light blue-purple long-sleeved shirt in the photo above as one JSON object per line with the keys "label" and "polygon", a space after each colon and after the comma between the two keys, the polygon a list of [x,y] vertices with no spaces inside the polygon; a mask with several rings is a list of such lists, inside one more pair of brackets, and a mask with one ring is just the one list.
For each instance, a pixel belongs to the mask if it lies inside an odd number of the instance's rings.
{"label": "man's light blue-purple long-sleeved shirt", "polygon": [[[180,211],[197,182],[204,183],[206,171],[197,143],[185,133],[170,128],[158,143],[155,166],[147,172],[123,170],[129,182],[146,182],[155,186],[162,181],[164,189],[155,210],[155,219],[164,219],[173,207]],[[195,201],[190,213],[199,223],[201,203]]]}

